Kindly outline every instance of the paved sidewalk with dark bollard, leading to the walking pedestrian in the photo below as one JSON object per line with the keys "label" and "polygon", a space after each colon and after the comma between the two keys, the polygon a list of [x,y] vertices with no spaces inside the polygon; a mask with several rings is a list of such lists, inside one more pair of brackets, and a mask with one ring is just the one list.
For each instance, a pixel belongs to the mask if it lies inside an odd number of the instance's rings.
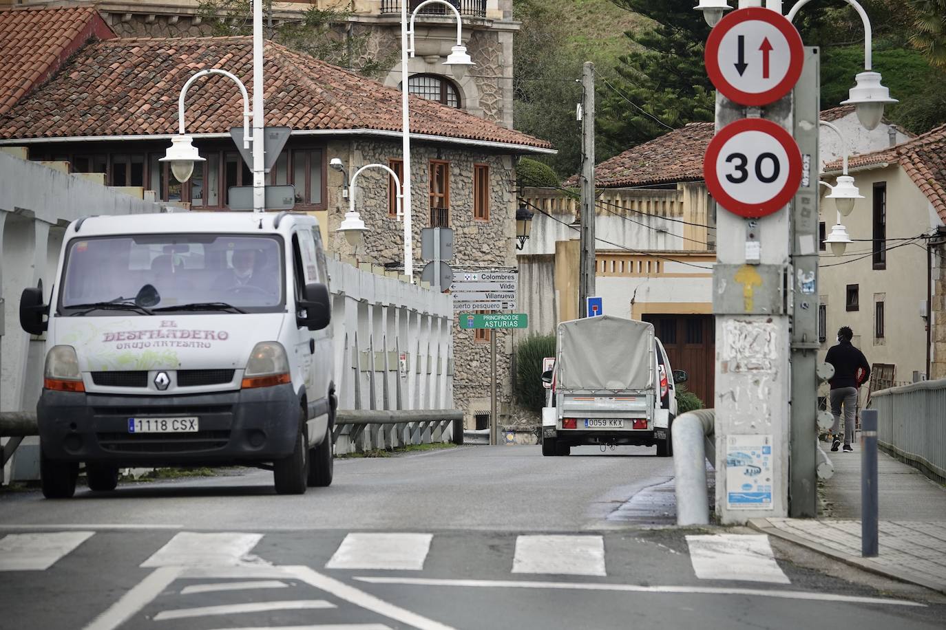
{"label": "paved sidewalk with dark bollard, leading to the walking pedestrian", "polygon": [[861,452],[830,452],[818,519],[752,519],[754,529],[848,564],[946,593],[946,488],[878,453],[880,554],[861,557]]}

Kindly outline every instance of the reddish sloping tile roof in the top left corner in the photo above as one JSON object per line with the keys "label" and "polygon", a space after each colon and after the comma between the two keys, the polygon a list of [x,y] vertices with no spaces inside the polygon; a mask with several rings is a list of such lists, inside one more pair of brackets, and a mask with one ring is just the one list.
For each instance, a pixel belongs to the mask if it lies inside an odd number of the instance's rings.
{"label": "reddish sloping tile roof in the top left corner", "polygon": [[0,9],[0,114],[52,75],[82,44],[113,30],[96,9]]}

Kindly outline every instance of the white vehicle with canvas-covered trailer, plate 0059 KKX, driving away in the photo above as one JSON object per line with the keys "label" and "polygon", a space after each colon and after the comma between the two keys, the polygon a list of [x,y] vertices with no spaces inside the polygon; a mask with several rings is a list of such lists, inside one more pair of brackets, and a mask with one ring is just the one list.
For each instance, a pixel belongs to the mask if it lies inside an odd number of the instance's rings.
{"label": "white vehicle with canvas-covered trailer, plate 0059 KKX, driving away", "polygon": [[568,455],[571,447],[597,444],[654,446],[668,457],[676,416],[673,371],[653,324],[598,315],[562,322],[555,364],[542,410],[542,454]]}

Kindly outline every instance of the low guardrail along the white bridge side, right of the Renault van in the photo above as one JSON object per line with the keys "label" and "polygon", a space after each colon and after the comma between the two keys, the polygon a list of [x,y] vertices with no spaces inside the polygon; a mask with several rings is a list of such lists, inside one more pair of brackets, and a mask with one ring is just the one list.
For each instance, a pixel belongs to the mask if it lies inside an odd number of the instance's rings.
{"label": "low guardrail along the white bridge side, right of the Renault van", "polygon": [[332,437],[336,452],[391,450],[447,439],[463,444],[464,412],[457,409],[340,409],[336,412]]}

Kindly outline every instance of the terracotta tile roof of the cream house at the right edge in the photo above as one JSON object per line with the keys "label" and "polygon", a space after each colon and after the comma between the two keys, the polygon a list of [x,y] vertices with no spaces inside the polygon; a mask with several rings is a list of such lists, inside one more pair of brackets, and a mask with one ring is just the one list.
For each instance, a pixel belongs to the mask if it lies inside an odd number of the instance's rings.
{"label": "terracotta tile roof of the cream house at the right edge", "polygon": [[[848,166],[855,168],[884,163],[901,165],[936,208],[939,218],[946,222],[946,125],[930,129],[900,145],[854,156]],[[840,160],[825,164],[825,172],[840,171]]]}

